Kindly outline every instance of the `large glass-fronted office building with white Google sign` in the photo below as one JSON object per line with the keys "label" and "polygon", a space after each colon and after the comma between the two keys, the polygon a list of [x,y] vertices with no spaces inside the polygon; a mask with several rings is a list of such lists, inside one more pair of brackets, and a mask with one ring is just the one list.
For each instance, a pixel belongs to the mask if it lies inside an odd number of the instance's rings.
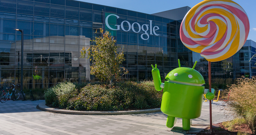
{"label": "large glass-fronted office building with white Google sign", "polygon": [[[208,77],[208,62],[187,49],[179,36],[180,23],[190,7],[146,14],[75,0],[0,0],[0,82],[23,88],[48,88],[59,81],[88,82],[90,60],[80,50],[92,44],[99,29],[109,31],[123,47],[129,71],[124,79],[152,80],[151,64],[161,78],[178,66],[192,67]],[[20,31],[23,30],[23,58]],[[98,32],[97,32],[98,31]],[[212,62],[212,78],[256,75],[256,43],[244,47],[225,62]]]}

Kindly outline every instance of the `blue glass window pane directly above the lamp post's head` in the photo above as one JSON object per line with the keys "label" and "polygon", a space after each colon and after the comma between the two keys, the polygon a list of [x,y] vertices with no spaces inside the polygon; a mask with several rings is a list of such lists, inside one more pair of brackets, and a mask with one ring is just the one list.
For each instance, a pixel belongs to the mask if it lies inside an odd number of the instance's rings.
{"label": "blue glass window pane directly above the lamp post's head", "polygon": [[[33,35],[33,22],[17,21],[17,28],[23,30],[24,34]],[[20,34],[20,32],[17,32]]]}

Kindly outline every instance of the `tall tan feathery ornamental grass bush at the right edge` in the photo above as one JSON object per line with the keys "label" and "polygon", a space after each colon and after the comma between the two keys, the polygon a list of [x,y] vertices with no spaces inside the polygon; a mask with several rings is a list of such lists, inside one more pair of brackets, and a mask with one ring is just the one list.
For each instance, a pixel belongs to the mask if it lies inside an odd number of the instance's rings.
{"label": "tall tan feathery ornamental grass bush at the right edge", "polygon": [[235,112],[234,115],[244,117],[255,134],[256,126],[256,77],[238,78],[237,83],[229,87],[230,100],[227,109]]}

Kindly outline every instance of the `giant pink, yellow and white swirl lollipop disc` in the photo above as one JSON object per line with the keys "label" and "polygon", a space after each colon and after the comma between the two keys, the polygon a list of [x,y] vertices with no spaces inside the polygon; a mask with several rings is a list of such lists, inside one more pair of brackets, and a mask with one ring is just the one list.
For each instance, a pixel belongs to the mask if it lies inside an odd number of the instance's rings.
{"label": "giant pink, yellow and white swirl lollipop disc", "polygon": [[248,34],[245,11],[231,0],[202,1],[189,10],[180,26],[182,43],[211,62],[234,55]]}

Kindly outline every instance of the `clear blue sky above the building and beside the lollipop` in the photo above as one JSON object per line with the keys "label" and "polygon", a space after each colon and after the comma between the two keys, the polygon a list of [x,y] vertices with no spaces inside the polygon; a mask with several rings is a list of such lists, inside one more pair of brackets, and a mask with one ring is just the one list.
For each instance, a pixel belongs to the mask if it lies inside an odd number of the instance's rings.
{"label": "clear blue sky above the building and beside the lollipop", "polygon": [[[193,7],[203,0],[78,0],[147,14],[180,7]],[[233,0],[244,8],[250,23],[248,40],[256,42],[256,0]]]}

